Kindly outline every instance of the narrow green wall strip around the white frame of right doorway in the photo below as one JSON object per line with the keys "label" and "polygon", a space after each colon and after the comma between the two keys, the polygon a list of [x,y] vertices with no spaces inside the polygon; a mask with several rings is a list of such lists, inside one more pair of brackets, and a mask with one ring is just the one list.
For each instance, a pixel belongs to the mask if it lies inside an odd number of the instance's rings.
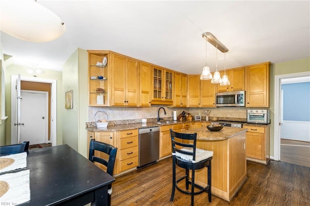
{"label": "narrow green wall strip around the white frame of right doorway", "polygon": [[[294,61],[286,61],[270,66],[270,156],[274,156],[274,115],[275,115],[275,76],[310,71],[310,57]],[[277,122],[278,124],[278,122]]]}

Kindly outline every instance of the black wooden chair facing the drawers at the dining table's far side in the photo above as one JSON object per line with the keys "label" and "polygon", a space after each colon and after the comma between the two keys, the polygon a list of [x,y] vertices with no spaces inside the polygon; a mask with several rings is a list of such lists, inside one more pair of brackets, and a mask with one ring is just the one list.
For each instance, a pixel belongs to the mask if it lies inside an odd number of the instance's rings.
{"label": "black wooden chair facing the drawers at the dining table's far side", "polygon": [[[103,156],[95,155],[95,151],[104,152],[109,155],[109,159],[104,159]],[[116,159],[117,147],[113,147],[108,143],[95,141],[95,139],[91,139],[89,146],[89,160],[92,162],[99,162],[107,167],[107,173],[110,176],[113,176],[114,164]],[[112,193],[112,185],[109,185],[108,188],[108,205],[111,204],[111,193]]]}

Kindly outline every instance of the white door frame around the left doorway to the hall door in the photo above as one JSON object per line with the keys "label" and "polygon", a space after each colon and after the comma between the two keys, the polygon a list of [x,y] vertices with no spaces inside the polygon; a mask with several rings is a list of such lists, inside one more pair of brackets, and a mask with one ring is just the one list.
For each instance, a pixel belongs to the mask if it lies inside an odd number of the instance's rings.
{"label": "white door frame around the left doorway to the hall door", "polygon": [[[16,138],[13,137],[16,122],[16,79],[17,75],[11,76],[11,144],[16,144]],[[57,145],[57,80],[40,79],[34,77],[20,76],[21,81],[41,82],[51,84],[51,108],[50,108],[50,142],[52,146]]]}

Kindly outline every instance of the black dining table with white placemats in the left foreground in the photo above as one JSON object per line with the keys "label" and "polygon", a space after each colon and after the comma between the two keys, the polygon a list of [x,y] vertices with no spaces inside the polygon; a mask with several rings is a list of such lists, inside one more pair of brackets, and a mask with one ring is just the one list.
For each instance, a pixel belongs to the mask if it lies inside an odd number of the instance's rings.
{"label": "black dining table with white placemats in the left foreground", "polygon": [[68,145],[29,150],[31,199],[22,206],[108,205],[108,186],[115,181]]}

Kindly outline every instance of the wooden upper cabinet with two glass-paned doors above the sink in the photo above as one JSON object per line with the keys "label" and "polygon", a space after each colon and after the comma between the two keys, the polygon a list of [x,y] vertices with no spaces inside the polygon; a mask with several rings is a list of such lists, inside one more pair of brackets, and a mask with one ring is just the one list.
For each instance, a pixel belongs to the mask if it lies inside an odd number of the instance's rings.
{"label": "wooden upper cabinet with two glass-paned doors above the sink", "polygon": [[153,66],[152,104],[173,104],[173,72]]}

